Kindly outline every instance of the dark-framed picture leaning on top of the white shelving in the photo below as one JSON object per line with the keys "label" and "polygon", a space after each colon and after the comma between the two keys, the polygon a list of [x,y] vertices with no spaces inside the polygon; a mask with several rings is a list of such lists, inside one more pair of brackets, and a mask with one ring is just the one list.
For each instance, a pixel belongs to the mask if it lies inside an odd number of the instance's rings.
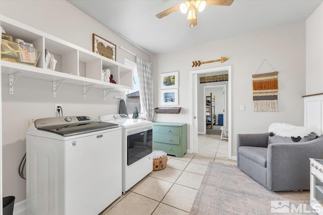
{"label": "dark-framed picture leaning on top of the white shelving", "polygon": [[112,42],[93,34],[92,51],[98,53],[100,56],[117,61],[117,46]]}

